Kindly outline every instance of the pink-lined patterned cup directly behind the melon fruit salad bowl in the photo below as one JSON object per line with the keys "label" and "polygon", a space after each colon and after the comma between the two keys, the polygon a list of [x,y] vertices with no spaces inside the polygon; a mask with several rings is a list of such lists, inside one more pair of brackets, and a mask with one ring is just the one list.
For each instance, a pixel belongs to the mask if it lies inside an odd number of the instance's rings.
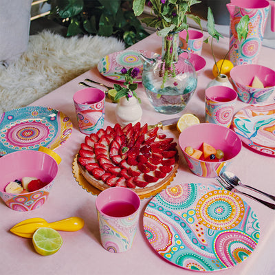
{"label": "pink-lined patterned cup directly behind the melon fruit salad bowl", "polygon": [[230,127],[238,94],[225,86],[206,89],[206,122]]}

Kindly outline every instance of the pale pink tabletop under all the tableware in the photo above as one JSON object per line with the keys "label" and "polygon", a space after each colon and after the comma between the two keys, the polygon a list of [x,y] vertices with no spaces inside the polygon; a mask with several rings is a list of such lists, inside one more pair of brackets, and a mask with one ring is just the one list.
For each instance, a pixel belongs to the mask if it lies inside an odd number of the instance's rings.
{"label": "pale pink tabletop under all the tableware", "polygon": [[[208,33],[203,32],[203,36],[204,39],[208,38]],[[213,49],[217,60],[224,58],[228,51],[228,45],[228,37],[220,38],[219,42],[214,41]],[[147,50],[160,54],[161,47],[162,38],[153,33],[127,50]],[[274,49],[262,47],[258,63],[275,70],[274,55]],[[157,124],[162,120],[179,118],[184,113],[195,114],[201,123],[205,122],[205,89],[214,78],[212,75],[214,60],[208,43],[203,43],[201,56],[206,60],[206,67],[198,72],[195,94],[181,113],[173,115],[157,113],[149,102],[142,83],[138,84],[136,91],[142,100],[141,124]],[[0,274],[194,274],[192,270],[184,269],[164,260],[153,250],[146,239],[143,228],[143,213],[152,197],[141,201],[139,225],[131,250],[123,253],[111,253],[102,248],[96,212],[97,196],[81,186],[73,173],[74,158],[80,149],[80,144],[85,140],[85,134],[80,133],[78,129],[73,96],[76,91],[85,88],[79,83],[85,81],[86,78],[108,86],[116,83],[102,76],[97,67],[91,67],[89,71],[30,104],[30,106],[50,107],[65,113],[72,121],[73,130],[67,141],[54,150],[60,155],[62,161],[58,165],[58,175],[54,179],[50,196],[43,206],[36,210],[19,212],[8,208],[1,200]],[[87,84],[98,87],[98,89],[104,89],[100,85]],[[270,102],[274,102],[274,97],[274,95],[270,97]],[[235,112],[246,106],[248,104],[237,100]],[[104,128],[109,125],[114,126],[117,123],[115,107],[116,104],[107,98]],[[173,137],[175,142],[178,141],[179,132],[176,128],[163,131],[168,137]],[[188,168],[179,145],[177,148],[179,151],[179,168],[175,178],[170,183],[171,186],[186,183],[217,185],[215,178],[198,177],[193,174]],[[241,152],[227,169],[238,175],[243,183],[275,195],[275,157],[257,153],[243,145]],[[250,205],[259,219],[261,230],[259,243],[248,259],[233,267],[219,270],[217,274],[275,274],[275,210],[248,197],[242,195],[240,197]],[[48,222],[66,219],[67,217],[81,217],[85,221],[85,225],[76,232],[60,231],[59,233],[63,238],[61,249],[50,256],[41,256],[35,252],[32,239],[25,239],[10,232],[10,228],[15,224],[33,217],[40,217]],[[204,273],[212,274],[213,272]]]}

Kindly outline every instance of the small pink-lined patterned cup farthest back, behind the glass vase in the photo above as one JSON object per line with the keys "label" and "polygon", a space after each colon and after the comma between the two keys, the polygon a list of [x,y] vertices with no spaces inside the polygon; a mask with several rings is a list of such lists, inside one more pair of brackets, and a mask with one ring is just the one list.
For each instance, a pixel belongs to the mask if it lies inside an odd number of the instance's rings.
{"label": "small pink-lined patterned cup farthest back, behind the glass vase", "polygon": [[[183,30],[179,32],[179,47],[183,48],[184,44],[186,43],[187,38],[187,31]],[[188,30],[188,42],[187,42],[187,49],[188,52],[192,54],[201,55],[201,49],[203,45],[203,33],[199,32],[198,30]]]}

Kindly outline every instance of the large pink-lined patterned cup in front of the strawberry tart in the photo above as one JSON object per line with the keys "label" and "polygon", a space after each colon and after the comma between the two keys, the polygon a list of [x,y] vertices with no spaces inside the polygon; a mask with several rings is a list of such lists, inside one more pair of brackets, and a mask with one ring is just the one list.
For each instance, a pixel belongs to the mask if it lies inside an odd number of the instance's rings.
{"label": "large pink-lined patterned cup in front of the strawberry tart", "polygon": [[98,195],[96,210],[103,248],[112,253],[131,249],[137,232],[140,197],[129,188],[108,188]]}

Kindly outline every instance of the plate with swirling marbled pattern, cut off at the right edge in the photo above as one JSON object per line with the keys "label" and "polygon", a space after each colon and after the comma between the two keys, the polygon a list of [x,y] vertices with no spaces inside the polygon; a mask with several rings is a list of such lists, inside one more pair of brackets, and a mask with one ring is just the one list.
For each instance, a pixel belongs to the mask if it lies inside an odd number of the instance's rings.
{"label": "plate with swirling marbled pattern, cut off at the right edge", "polygon": [[232,126],[244,144],[275,157],[275,103],[241,109],[234,115]]}

